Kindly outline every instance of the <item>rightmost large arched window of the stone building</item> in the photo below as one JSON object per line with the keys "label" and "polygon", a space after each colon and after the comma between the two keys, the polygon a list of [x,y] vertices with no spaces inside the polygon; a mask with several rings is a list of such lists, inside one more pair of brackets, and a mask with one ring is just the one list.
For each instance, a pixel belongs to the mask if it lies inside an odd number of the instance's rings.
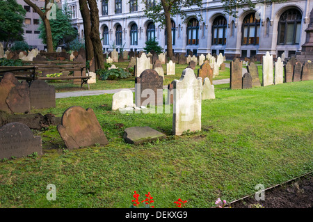
{"label": "rightmost large arched window of the stone building", "polygon": [[278,22],[278,45],[298,45],[302,15],[296,8],[286,10]]}

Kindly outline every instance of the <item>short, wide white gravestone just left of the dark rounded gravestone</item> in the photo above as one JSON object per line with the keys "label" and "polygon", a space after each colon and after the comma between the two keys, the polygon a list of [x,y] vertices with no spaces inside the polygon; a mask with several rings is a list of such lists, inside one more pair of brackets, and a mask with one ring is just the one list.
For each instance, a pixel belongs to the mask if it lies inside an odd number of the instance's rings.
{"label": "short, wide white gravestone just left of the dark rounded gravestone", "polygon": [[127,107],[132,107],[133,102],[133,93],[130,89],[120,90],[118,93],[114,93],[112,97],[112,110],[116,111],[118,109],[125,109]]}

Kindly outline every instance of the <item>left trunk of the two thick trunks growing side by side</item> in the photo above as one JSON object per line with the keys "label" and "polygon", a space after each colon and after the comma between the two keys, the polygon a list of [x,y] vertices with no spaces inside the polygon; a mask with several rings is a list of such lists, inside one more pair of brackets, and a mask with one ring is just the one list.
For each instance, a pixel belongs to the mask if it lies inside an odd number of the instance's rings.
{"label": "left trunk of the two thick trunks growing side by side", "polygon": [[87,0],[79,0],[79,10],[81,10],[81,17],[83,18],[83,35],[85,35],[86,61],[90,61],[94,56],[94,52],[93,42],[90,39],[91,21]]}

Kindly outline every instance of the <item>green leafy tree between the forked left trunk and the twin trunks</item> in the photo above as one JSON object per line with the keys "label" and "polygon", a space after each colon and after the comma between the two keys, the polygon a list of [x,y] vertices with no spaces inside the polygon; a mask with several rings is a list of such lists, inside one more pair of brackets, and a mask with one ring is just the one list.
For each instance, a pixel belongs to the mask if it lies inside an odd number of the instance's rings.
{"label": "green leafy tree between the forked left trunk and the twin trunks", "polygon": [[[70,17],[70,12],[66,7],[64,10],[56,7],[56,19],[50,19],[49,21],[54,49],[60,45],[67,45],[77,38],[77,30],[72,26]],[[42,43],[47,44],[45,26],[42,21],[40,22],[39,31],[39,38],[42,40]]]}

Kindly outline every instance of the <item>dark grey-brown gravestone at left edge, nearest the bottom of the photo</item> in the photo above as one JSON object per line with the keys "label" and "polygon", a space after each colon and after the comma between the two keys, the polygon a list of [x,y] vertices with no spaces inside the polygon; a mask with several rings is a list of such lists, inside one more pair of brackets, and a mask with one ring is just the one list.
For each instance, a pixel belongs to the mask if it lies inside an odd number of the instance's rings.
{"label": "dark grey-brown gravestone at left edge, nearest the bottom of the photo", "polygon": [[27,157],[35,152],[42,155],[42,141],[40,136],[33,136],[29,127],[19,122],[0,127],[0,159]]}

